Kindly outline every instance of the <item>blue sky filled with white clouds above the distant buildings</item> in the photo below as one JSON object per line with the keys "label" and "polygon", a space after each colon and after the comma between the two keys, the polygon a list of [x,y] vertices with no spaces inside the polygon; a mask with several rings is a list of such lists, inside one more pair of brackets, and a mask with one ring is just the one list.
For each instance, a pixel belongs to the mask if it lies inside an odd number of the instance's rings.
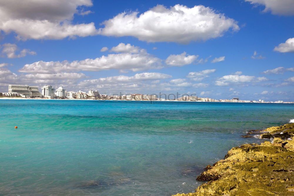
{"label": "blue sky filled with white clouds above the distant buildings", "polygon": [[1,0],[9,84],[294,101],[294,0]]}

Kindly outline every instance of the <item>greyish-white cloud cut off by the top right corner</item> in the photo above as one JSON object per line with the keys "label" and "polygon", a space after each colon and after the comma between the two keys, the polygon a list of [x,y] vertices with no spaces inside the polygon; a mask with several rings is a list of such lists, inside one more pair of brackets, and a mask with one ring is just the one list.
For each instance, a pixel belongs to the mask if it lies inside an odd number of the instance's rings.
{"label": "greyish-white cloud cut off by the top right corner", "polygon": [[245,0],[250,4],[259,4],[265,6],[264,12],[271,11],[275,15],[294,15],[293,0]]}

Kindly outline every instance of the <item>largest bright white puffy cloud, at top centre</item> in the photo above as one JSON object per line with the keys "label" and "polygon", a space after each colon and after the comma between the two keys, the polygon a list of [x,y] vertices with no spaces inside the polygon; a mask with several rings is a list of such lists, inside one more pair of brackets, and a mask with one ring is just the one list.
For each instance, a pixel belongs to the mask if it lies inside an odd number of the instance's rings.
{"label": "largest bright white puffy cloud, at top centre", "polygon": [[106,36],[134,36],[148,42],[178,42],[207,40],[223,36],[229,29],[239,30],[237,22],[202,5],[189,8],[157,5],[140,14],[123,12],[104,21],[99,34]]}

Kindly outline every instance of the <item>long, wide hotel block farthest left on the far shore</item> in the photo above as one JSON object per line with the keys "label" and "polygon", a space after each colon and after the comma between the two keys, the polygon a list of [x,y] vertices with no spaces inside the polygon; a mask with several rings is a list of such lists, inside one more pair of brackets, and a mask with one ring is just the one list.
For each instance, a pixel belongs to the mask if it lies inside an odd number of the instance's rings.
{"label": "long, wide hotel block farthest left on the far shore", "polygon": [[8,85],[8,93],[19,93],[26,97],[41,97],[38,87],[29,87],[28,85]]}

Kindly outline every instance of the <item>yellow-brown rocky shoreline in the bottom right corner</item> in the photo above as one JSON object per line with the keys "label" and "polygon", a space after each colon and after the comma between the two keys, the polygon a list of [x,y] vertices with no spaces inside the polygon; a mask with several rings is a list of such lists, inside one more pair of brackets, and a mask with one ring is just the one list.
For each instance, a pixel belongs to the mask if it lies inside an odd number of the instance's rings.
{"label": "yellow-brown rocky shoreline in the bottom right corner", "polygon": [[242,137],[269,141],[232,148],[197,177],[208,182],[195,193],[173,196],[294,195],[294,123],[251,130]]}

